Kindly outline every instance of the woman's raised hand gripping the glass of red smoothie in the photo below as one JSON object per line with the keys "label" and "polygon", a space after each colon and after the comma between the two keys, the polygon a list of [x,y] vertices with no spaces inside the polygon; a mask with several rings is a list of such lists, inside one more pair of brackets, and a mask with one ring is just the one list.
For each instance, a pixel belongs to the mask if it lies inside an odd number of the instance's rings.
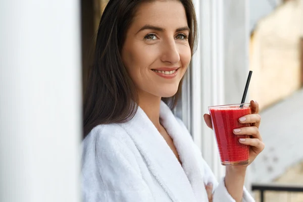
{"label": "woman's raised hand gripping the glass of red smoothie", "polygon": [[[240,123],[250,123],[249,127],[242,127],[233,130],[235,135],[249,135],[251,138],[240,138],[239,142],[241,144],[250,145],[249,149],[249,164],[251,164],[256,157],[261,153],[264,149],[265,144],[262,141],[261,134],[259,132],[259,126],[261,123],[261,116],[259,113],[259,104],[254,102],[254,100],[250,101],[251,114],[243,116],[239,119]],[[204,120],[208,127],[213,129],[211,116],[209,114],[204,115]],[[248,165],[249,165],[248,164]],[[242,167],[247,167],[248,165],[243,165]],[[237,166],[238,167],[238,166]]]}

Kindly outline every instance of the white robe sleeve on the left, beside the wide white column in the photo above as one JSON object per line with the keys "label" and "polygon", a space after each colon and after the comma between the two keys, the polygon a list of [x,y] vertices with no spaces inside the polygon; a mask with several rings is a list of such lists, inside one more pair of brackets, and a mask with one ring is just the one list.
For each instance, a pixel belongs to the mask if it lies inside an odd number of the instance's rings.
{"label": "white robe sleeve on the left, beside the wide white column", "polygon": [[126,143],[114,135],[96,139],[85,148],[82,162],[83,201],[155,201]]}

